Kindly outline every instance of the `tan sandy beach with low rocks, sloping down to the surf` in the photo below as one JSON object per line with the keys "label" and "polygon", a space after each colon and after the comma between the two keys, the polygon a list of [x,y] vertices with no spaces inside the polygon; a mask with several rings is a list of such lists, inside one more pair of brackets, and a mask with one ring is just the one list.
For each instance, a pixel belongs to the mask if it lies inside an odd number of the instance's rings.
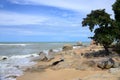
{"label": "tan sandy beach with low rocks, sloping down to the surf", "polygon": [[[101,60],[101,57],[81,56],[81,54],[101,50],[103,47],[94,45],[59,52],[50,61],[37,61],[35,66],[27,69],[24,75],[17,77],[17,80],[120,80],[118,72],[112,74],[109,69],[102,70],[96,66],[94,62]],[[63,62],[51,66],[54,62],[60,61],[61,57],[64,57]]]}

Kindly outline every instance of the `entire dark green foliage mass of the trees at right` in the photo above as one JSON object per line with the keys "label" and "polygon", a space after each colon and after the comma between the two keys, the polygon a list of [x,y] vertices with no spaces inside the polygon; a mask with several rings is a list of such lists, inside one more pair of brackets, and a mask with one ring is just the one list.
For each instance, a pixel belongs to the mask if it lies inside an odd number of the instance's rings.
{"label": "entire dark green foliage mass of the trees at right", "polygon": [[90,38],[96,41],[97,44],[103,45],[106,51],[115,40],[120,41],[120,0],[116,0],[112,7],[115,20],[105,12],[105,9],[98,9],[91,11],[82,21],[83,27],[88,26],[90,31],[95,33]]}

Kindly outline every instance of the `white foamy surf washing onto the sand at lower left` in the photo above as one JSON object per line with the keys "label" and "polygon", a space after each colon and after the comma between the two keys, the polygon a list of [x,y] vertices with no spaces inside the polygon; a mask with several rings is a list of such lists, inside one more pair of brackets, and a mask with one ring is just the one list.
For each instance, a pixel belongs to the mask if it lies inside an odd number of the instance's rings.
{"label": "white foamy surf washing onto the sand at lower left", "polygon": [[23,70],[35,64],[31,58],[37,54],[31,55],[11,56],[7,60],[0,61],[0,80],[16,80],[12,76],[22,75]]}

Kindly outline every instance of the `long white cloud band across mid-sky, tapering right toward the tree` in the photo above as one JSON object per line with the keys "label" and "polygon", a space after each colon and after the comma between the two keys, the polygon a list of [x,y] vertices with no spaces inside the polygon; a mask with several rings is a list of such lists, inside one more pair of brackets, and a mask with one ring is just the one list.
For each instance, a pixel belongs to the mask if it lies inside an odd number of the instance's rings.
{"label": "long white cloud band across mid-sky, tapering right toward the tree", "polygon": [[52,15],[30,15],[10,11],[0,11],[0,25],[47,25],[47,26],[80,26],[80,22]]}

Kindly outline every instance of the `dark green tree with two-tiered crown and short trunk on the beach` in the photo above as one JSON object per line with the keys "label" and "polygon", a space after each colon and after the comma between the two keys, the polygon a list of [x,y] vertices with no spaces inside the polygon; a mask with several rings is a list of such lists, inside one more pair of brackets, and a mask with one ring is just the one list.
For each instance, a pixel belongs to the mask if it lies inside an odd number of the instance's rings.
{"label": "dark green tree with two-tiered crown and short trunk on the beach", "polygon": [[[82,26],[89,26],[94,36],[90,37],[96,43],[104,46],[106,54],[108,54],[109,45],[114,41],[114,20],[105,12],[105,9],[91,11],[82,21]],[[96,26],[96,27],[95,27]]]}

